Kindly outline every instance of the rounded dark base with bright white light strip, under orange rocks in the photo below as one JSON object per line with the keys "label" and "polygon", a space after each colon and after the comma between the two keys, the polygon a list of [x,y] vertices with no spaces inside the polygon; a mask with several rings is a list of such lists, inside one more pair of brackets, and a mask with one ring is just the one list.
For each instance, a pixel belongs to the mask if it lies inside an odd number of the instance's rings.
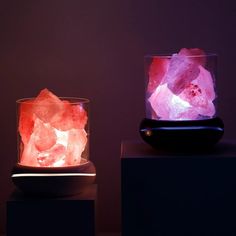
{"label": "rounded dark base with bright white light strip, under orange rocks", "polygon": [[94,183],[96,169],[91,161],[68,167],[31,167],[16,164],[12,181],[28,195],[69,196]]}

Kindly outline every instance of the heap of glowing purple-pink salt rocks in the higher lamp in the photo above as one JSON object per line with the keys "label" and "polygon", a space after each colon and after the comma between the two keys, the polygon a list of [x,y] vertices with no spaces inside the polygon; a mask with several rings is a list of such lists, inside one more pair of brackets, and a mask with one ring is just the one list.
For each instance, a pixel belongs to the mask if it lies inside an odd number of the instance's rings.
{"label": "heap of glowing purple-pink salt rocks in the higher lamp", "polygon": [[[205,53],[184,48],[170,59],[159,60],[164,62],[157,64],[154,58],[149,70],[147,93],[151,92],[152,118],[196,120],[214,116],[216,95],[211,73],[204,68]],[[151,76],[153,71],[158,74],[156,78]]]}

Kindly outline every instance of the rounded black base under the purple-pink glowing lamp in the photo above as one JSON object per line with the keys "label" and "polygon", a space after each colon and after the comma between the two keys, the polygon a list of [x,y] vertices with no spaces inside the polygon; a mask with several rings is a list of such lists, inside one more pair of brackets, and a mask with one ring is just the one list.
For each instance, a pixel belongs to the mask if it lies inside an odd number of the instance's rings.
{"label": "rounded black base under the purple-pink glowing lamp", "polygon": [[143,119],[139,132],[154,148],[198,151],[211,148],[222,138],[224,123],[219,117],[184,121]]}

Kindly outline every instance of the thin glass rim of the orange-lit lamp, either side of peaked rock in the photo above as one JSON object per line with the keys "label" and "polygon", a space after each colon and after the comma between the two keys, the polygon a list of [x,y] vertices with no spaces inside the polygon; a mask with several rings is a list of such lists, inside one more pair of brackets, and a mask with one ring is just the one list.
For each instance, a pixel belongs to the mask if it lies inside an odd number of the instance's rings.
{"label": "thin glass rim of the orange-lit lamp, either side of peaked rock", "polygon": [[[90,102],[88,98],[79,97],[58,97],[61,101],[68,101],[70,104],[87,104]],[[20,98],[16,100],[17,104],[33,104],[36,97]],[[53,104],[53,102],[52,102]]]}

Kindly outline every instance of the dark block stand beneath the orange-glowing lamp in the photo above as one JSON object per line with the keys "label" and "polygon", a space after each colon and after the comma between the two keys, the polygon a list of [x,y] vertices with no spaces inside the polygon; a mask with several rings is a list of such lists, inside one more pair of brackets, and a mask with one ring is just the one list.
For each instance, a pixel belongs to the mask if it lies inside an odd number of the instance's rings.
{"label": "dark block stand beneath the orange-glowing lamp", "polygon": [[14,192],[7,201],[7,236],[95,236],[97,185],[63,198]]}

